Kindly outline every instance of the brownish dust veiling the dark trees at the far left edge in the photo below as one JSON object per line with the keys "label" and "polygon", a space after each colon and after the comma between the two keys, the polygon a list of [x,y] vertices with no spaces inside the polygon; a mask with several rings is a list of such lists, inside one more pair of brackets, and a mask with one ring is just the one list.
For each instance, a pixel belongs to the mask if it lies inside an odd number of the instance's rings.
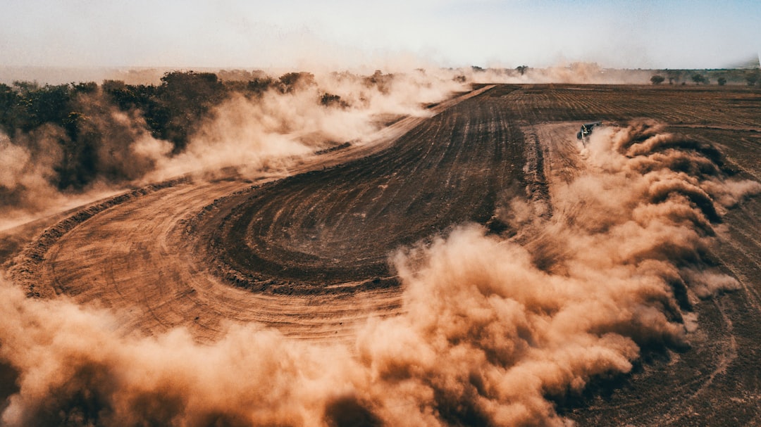
{"label": "brownish dust veiling the dark trees at the far left edge", "polygon": [[[62,125],[21,123],[12,136],[0,126],[0,229],[113,195],[170,151],[139,115],[120,112],[97,93],[75,93],[68,102],[74,111]],[[46,107],[47,115],[65,112]]]}

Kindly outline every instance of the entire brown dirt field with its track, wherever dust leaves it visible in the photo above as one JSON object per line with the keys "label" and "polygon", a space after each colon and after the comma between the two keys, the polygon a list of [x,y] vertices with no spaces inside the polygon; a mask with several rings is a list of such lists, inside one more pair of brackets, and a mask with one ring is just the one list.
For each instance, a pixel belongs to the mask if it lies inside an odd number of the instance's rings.
{"label": "entire brown dirt field with its track, wherever dust leaves it visible", "polygon": [[[213,342],[226,321],[256,321],[295,339],[350,341],[369,315],[400,310],[387,261],[396,248],[466,221],[529,245],[530,229],[495,216],[514,198],[542,205],[546,220],[575,218],[581,207],[556,199],[587,167],[581,122],[656,119],[761,181],[761,93],[744,87],[499,85],[434,112],[280,174],[178,180],[84,208],[27,246],[16,279],[35,295],[113,308],[118,334],[186,326]],[[713,260],[740,289],[696,305],[688,349],[645,351],[631,374],[559,401],[562,416],[761,424],[761,200],[722,226]],[[24,233],[3,239],[15,246]]]}

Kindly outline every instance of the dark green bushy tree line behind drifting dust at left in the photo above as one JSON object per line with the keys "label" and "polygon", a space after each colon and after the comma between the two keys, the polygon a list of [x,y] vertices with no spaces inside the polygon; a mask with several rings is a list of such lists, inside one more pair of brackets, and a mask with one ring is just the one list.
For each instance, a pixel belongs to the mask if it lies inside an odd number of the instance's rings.
{"label": "dark green bushy tree line behind drifting dust at left", "polygon": [[[373,81],[383,76],[390,74],[365,77],[365,84],[380,84]],[[305,72],[286,73],[277,78],[252,74],[247,81],[222,81],[215,73],[170,71],[156,85],[114,80],[100,85],[15,81],[12,85],[0,84],[0,144],[20,145],[33,156],[43,156],[42,151],[50,150],[49,141],[54,140],[53,148],[57,147],[59,158],[49,180],[59,190],[79,190],[95,179],[119,181],[139,177],[129,176],[126,167],[107,159],[127,150],[126,146],[133,142],[129,141],[129,134],[135,134],[129,123],[119,122],[113,116],[114,111],[122,112],[129,122],[140,122],[142,131],[148,131],[153,138],[168,141],[171,153],[177,154],[185,150],[215,106],[233,93],[253,99],[268,90],[295,93],[313,86],[316,86],[314,75]],[[326,108],[349,107],[332,93],[321,93],[315,102]],[[44,147],[43,139],[48,141]]]}

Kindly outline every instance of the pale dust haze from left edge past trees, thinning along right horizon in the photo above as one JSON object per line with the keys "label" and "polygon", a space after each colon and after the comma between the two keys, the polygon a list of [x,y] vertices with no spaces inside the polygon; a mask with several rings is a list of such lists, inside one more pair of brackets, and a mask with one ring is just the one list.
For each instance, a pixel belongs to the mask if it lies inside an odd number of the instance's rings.
{"label": "pale dust haze from left edge past trees, thinning along right horizon", "polygon": [[[88,119],[84,131],[103,135],[97,140],[97,176],[86,188],[56,190],[56,169],[65,162],[60,146],[71,142],[59,126],[0,132],[0,229],[189,172],[228,166],[247,173],[287,169],[288,163],[315,150],[371,140],[384,120],[428,115],[425,106],[468,90],[470,83],[646,83],[649,78],[635,71],[604,74],[598,65],[584,63],[529,68],[524,74],[473,68],[409,71],[404,64],[393,69],[400,71],[369,72],[372,87],[355,72],[315,71],[314,84],[292,93],[267,90],[253,99],[233,93],[190,135],[182,153],[152,137],[139,110],[120,111],[100,92],[81,94],[75,105]],[[345,106],[321,105],[324,93],[341,96]]]}

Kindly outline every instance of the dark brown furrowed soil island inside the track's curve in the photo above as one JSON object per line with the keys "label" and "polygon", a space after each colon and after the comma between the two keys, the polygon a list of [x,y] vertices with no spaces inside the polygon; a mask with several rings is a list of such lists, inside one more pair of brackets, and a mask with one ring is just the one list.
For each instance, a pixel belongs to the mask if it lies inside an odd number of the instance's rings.
{"label": "dark brown furrowed soil island inside the track's curve", "polygon": [[523,186],[522,134],[509,114],[466,100],[390,150],[226,198],[196,224],[209,235],[200,246],[249,289],[396,286],[388,267],[396,248],[465,221],[503,227],[492,220],[498,199]]}

